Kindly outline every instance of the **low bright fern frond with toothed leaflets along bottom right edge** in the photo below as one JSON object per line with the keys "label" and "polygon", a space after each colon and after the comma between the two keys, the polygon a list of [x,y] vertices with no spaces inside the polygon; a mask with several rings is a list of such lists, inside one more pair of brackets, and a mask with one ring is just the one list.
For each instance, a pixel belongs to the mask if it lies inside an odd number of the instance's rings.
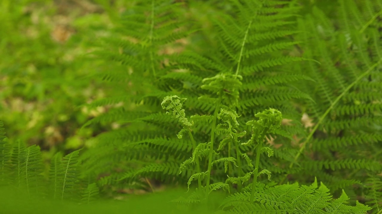
{"label": "low bright fern frond with toothed leaflets along bottom right edge", "polygon": [[227,213],[365,213],[370,208],[358,203],[351,207],[343,204],[349,200],[345,192],[333,200],[329,189],[317,180],[310,186],[295,184],[275,187],[257,187],[254,203],[249,203],[249,192],[236,193],[223,201]]}

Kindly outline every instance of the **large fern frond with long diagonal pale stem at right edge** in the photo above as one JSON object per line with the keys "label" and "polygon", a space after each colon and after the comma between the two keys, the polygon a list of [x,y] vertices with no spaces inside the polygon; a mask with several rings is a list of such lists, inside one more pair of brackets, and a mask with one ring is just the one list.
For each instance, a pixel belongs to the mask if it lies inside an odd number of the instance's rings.
{"label": "large fern frond with long diagonal pale stem at right edge", "polygon": [[[290,169],[298,163],[296,168],[306,171],[303,174],[327,180],[331,190],[354,191],[352,185],[365,182],[366,174],[381,171],[380,161],[368,152],[379,142],[382,58],[376,36],[381,5],[369,0],[338,3],[337,23],[317,7],[298,21],[298,39],[305,41],[298,44],[304,50],[299,56],[321,65],[308,61],[299,67],[300,73],[316,81],[296,85],[315,101],[304,103],[314,127]],[[348,173],[351,176],[343,176]],[[353,194],[352,200],[358,193]]]}

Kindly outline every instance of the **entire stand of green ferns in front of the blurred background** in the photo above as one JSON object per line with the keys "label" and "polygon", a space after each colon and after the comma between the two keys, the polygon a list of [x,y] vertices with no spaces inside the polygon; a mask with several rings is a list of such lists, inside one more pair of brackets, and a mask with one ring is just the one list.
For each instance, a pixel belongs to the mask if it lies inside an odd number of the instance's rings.
{"label": "entire stand of green ferns in front of the blurred background", "polygon": [[187,189],[168,200],[182,211],[382,213],[382,2],[338,0],[332,15],[230,0],[210,28],[191,5],[142,0],[113,17],[92,54],[120,64],[93,76],[128,90],[84,104],[112,108],[83,127],[118,128],[49,170],[3,133],[2,184],[84,204],[159,180]]}

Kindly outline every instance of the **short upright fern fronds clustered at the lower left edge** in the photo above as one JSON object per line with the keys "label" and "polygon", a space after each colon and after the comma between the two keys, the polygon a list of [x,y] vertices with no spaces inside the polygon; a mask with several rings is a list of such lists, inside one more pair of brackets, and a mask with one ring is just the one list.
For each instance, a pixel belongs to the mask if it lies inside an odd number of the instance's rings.
{"label": "short upright fern fronds clustered at the lower left edge", "polygon": [[[47,169],[48,176],[44,177],[39,146],[25,147],[21,141],[16,141],[12,145],[4,141],[4,137],[1,140],[2,148],[13,148],[2,150],[2,187],[16,187],[21,194],[25,190],[29,197],[44,196],[60,200],[79,198],[81,184],[77,168],[80,150],[75,150],[65,157],[62,157],[62,153],[55,154]],[[99,192],[97,188],[95,184],[87,186],[83,195],[87,203],[97,196]]]}

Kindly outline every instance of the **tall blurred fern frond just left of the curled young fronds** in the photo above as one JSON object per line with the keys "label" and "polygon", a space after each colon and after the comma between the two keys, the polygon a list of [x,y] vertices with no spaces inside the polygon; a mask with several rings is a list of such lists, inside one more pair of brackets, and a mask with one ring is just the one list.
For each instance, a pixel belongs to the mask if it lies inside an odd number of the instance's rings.
{"label": "tall blurred fern frond just left of the curled young fronds", "polygon": [[[123,75],[118,71],[105,72],[97,76],[115,83],[126,82],[125,80],[128,78],[134,92],[131,91],[131,93],[119,97],[107,97],[102,101],[90,104],[89,107],[94,107],[122,102],[123,107],[110,110],[86,124],[118,121],[122,125],[131,124],[131,126],[116,130],[114,133],[100,135],[97,147],[103,148],[101,149],[103,154],[97,152],[96,149],[89,150],[85,151],[82,159],[86,160],[84,161],[85,168],[89,169],[83,170],[83,177],[92,177],[101,172],[113,172],[115,168],[120,167],[121,163],[127,161],[128,166],[123,167],[125,172],[117,176],[118,180],[129,180],[129,184],[126,185],[140,182],[138,175],[142,176],[147,172],[155,172],[149,174],[149,177],[159,176],[170,179],[168,176],[160,176],[156,173],[159,169],[165,171],[167,168],[159,167],[154,170],[152,168],[154,166],[150,164],[151,161],[173,161],[174,163],[179,161],[181,163],[185,154],[195,148],[193,144],[184,141],[179,143],[180,141],[168,138],[166,134],[163,134],[185,129],[177,129],[176,121],[163,117],[164,114],[159,113],[157,108],[163,97],[167,96],[165,90],[170,88],[169,85],[163,84],[167,74],[167,68],[165,68],[167,65],[164,61],[170,56],[160,54],[160,52],[166,46],[174,44],[176,40],[188,34],[183,28],[184,23],[174,19],[177,16],[177,11],[174,9],[180,7],[181,4],[158,0],[141,1],[139,4],[133,5],[131,11],[123,13],[118,19],[114,36],[103,39],[104,44],[109,47],[108,50],[100,49],[94,54],[107,61],[111,59],[127,65],[130,70],[128,75]],[[117,35],[122,35],[123,39]],[[126,38],[125,35],[129,35],[129,37]],[[121,68],[119,65],[117,67]],[[195,81],[195,77],[187,80]],[[142,83],[149,84],[142,85]],[[154,87],[151,83],[154,84]],[[129,101],[136,104],[127,106],[126,102]],[[132,113],[134,109],[138,108],[139,112]],[[163,126],[164,124],[167,125]],[[132,129],[133,127],[136,129]],[[145,130],[143,131],[143,129]],[[179,133],[179,136],[183,134],[183,131]],[[107,142],[105,139],[113,142],[115,146],[110,147],[105,144]],[[193,139],[191,139],[191,143],[193,143]],[[97,155],[94,155],[95,153]],[[138,170],[136,171],[137,176],[134,176],[135,173],[131,171],[131,167]],[[147,171],[139,171],[139,168],[147,169]],[[96,169],[96,171],[92,169]],[[166,175],[168,174],[166,173]],[[96,182],[94,179],[92,181]],[[109,180],[107,183],[115,183],[115,181]]]}

